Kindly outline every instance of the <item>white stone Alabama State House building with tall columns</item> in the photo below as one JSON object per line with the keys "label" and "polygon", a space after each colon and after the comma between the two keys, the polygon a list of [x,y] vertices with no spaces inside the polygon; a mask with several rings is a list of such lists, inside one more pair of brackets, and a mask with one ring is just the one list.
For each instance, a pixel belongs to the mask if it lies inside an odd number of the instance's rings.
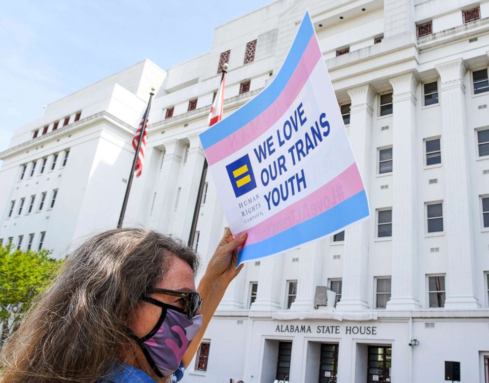
{"label": "white stone Alabama State House building with tall columns", "polygon": [[[219,65],[229,115],[277,73],[306,7],[372,217],[247,264],[184,382],[444,382],[454,361],[461,382],[488,383],[489,1],[279,0],[216,28],[203,56],[54,102],[0,153],[0,239],[64,255],[115,227],[154,87],[125,225],[192,234],[205,261],[227,226],[209,175],[196,204]],[[336,307],[314,309],[316,286]]]}

